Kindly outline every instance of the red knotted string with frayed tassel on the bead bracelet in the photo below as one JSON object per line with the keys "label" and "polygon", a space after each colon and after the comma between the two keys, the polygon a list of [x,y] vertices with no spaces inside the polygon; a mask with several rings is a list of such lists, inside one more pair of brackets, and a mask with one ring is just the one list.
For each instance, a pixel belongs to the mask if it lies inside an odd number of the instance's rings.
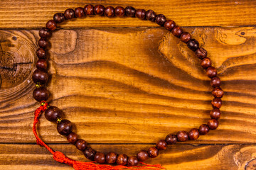
{"label": "red knotted string with frayed tassel on the bead bracelet", "polygon": [[40,115],[42,111],[46,111],[46,109],[48,108],[48,103],[46,103],[46,101],[42,101],[41,103],[42,103],[41,106],[37,108],[35,111],[35,118],[33,121],[33,134],[36,137],[37,145],[46,147],[46,149],[48,149],[48,151],[51,154],[53,154],[53,159],[55,159],[55,161],[68,164],[69,166],[72,166],[75,170],[165,169],[160,164],[151,165],[151,164],[145,164],[143,162],[139,162],[139,163],[143,164],[144,166],[122,166],[122,165],[111,166],[107,164],[95,164],[96,162],[79,162],[79,161],[70,159],[69,157],[66,157],[65,154],[63,154],[62,152],[53,151],[53,149],[48,147],[48,145],[46,145],[46,143],[43,142],[43,140],[41,140],[40,137],[38,137],[38,134],[36,132],[36,124],[39,122]]}

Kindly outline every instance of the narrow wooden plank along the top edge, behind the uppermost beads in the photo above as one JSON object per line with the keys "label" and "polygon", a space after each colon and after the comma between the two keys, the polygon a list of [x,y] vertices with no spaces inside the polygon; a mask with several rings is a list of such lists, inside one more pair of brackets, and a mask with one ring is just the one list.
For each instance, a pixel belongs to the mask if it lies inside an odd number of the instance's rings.
{"label": "narrow wooden plank along the top edge, behind the uppermost beads", "polygon": [[[68,0],[2,0],[0,1],[0,28],[41,28],[56,12],[66,8],[103,4],[105,6],[134,6],[153,9],[173,19],[179,26],[255,26],[256,2],[232,1],[68,1]],[[155,23],[134,18],[87,17],[65,22],[62,28],[85,27],[156,27]]]}

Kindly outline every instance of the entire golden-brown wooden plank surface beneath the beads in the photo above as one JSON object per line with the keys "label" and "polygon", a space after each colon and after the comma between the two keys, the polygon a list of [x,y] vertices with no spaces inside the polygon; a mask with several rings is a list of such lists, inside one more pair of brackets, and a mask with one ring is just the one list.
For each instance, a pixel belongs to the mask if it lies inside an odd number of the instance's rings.
{"label": "entire golden-brown wooden plank surface beneath the beads", "polygon": [[[146,163],[166,169],[256,169],[256,1],[0,1],[0,169],[72,169],[36,145],[32,98],[38,29],[65,8],[103,4],[163,13],[208,50],[223,80],[217,130],[169,146]],[[211,87],[199,60],[156,23],[92,16],[60,24],[50,38],[50,105],[99,152],[136,154],[208,121]],[[87,161],[55,123],[45,142]]]}

